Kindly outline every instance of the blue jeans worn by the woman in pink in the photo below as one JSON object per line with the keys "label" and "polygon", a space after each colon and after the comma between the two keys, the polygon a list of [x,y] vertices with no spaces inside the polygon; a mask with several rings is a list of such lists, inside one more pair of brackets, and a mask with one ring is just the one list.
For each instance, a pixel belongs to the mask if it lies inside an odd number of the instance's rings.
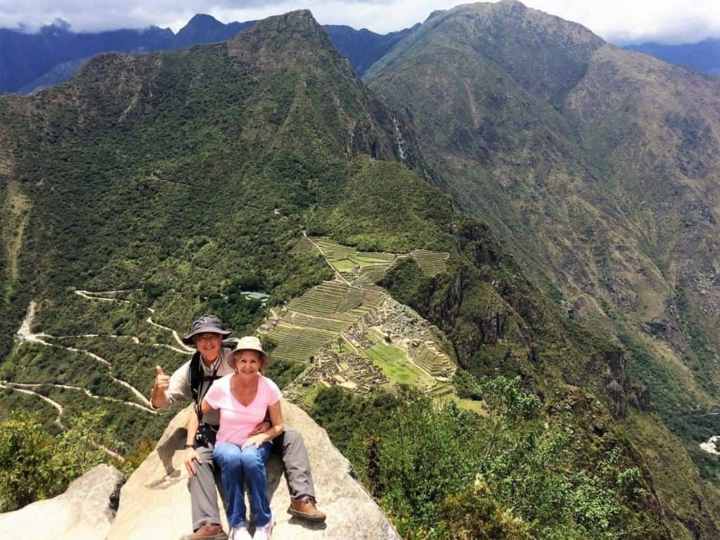
{"label": "blue jeans worn by the woman in pink", "polygon": [[240,450],[237,444],[220,443],[212,451],[212,459],[215,459],[222,471],[222,487],[225,490],[230,527],[246,524],[243,482],[248,485],[248,499],[255,525],[261,527],[269,523],[270,501],[265,464],[270,458],[271,450],[271,443],[265,443],[259,448],[248,446],[244,450]]}

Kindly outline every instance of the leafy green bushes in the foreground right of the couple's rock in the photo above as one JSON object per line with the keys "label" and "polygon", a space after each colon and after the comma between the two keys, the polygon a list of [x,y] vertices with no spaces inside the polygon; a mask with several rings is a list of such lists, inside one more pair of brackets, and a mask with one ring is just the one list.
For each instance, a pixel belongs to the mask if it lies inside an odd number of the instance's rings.
{"label": "leafy green bushes in the foreground right of the couple's rock", "polygon": [[[572,417],[543,428],[519,379],[480,381],[490,416],[333,387],[310,408],[406,539],[652,538],[642,472],[613,436],[577,460]],[[509,509],[512,508],[510,511]]]}

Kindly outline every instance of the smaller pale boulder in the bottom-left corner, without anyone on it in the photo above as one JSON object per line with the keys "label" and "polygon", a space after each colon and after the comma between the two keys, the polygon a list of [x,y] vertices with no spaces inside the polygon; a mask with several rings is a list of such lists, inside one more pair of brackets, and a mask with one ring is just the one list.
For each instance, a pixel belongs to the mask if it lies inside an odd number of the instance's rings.
{"label": "smaller pale boulder in the bottom-left corner, without anyone on it", "polygon": [[98,465],[73,482],[63,495],[0,514],[0,538],[7,540],[104,540],[125,477]]}

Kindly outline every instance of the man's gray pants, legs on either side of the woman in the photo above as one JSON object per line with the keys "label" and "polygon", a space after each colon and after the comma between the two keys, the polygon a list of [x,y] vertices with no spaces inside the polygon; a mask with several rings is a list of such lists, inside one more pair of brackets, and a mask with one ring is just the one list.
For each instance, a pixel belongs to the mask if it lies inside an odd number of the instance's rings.
{"label": "man's gray pants, legs on either side of the woman", "polygon": [[[215,485],[222,490],[220,467],[212,462],[212,449],[215,447],[215,432],[208,433],[207,446],[199,446],[197,454],[202,463],[195,464],[195,475],[190,477],[190,500],[192,503],[192,529],[197,531],[203,523],[220,524],[220,509],[217,506]],[[310,495],[315,498],[312,484],[310,458],[307,456],[305,441],[300,432],[292,428],[273,439],[273,453],[282,456],[285,480],[292,498]]]}

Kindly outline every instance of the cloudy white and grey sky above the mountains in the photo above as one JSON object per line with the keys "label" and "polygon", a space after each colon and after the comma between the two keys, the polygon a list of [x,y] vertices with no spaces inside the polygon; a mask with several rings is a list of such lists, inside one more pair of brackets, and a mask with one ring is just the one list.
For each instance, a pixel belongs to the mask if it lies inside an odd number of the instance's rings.
{"label": "cloudy white and grey sky above the mountains", "polygon": [[[37,30],[64,19],[76,32],[140,28],[179,30],[193,14],[248,21],[294,9],[312,10],[321,24],[348,24],[386,33],[423,22],[462,0],[0,0],[0,27]],[[618,45],[697,42],[720,37],[719,0],[526,0],[526,5],[580,22]]]}

